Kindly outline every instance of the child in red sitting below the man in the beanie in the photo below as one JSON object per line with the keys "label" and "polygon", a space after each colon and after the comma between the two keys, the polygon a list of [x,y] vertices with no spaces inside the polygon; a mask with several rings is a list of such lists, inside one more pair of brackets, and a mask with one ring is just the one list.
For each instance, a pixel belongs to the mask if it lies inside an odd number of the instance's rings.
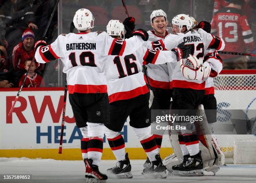
{"label": "child in red sitting below the man in the beanie", "polygon": [[[31,58],[27,59],[25,61],[24,68],[26,70],[28,70],[28,68],[29,68],[29,66],[31,64],[31,61],[32,61]],[[36,70],[36,63],[33,62],[31,68],[28,71],[28,77],[26,78],[26,81],[25,81],[25,84],[24,84],[23,87],[37,88],[37,87],[40,86],[40,84],[41,84],[41,86],[45,86],[44,80],[43,80],[42,76],[40,76],[39,74],[35,73],[35,70]],[[25,76],[26,76],[26,74],[23,74],[23,76],[21,76],[20,82],[19,82],[19,87],[22,85],[22,82],[23,82]]]}

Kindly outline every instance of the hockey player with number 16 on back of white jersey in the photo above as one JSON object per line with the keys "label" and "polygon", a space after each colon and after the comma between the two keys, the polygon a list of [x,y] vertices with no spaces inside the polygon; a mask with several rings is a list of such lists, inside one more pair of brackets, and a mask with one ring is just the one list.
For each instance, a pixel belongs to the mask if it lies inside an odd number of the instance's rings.
{"label": "hockey player with number 16 on back of white jersey", "polygon": [[[131,19],[129,17],[124,22]],[[121,40],[124,38],[124,25],[119,20],[110,20],[107,32],[113,38]],[[156,140],[151,134],[149,90],[141,66],[145,51],[146,48],[141,47],[130,55],[108,56],[106,78],[110,101],[110,124],[105,124],[105,135],[118,162],[107,172],[118,178],[132,178],[128,153],[125,154],[125,142],[120,135],[128,116],[131,127],[152,162],[142,174],[152,177],[151,174],[154,173],[154,178],[166,178],[167,174],[157,150]]]}

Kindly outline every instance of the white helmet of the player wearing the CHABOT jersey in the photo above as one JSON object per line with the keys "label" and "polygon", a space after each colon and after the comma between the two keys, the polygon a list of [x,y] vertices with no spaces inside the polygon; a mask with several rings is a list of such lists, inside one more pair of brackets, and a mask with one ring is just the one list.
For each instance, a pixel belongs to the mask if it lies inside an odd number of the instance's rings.
{"label": "white helmet of the player wearing the CHABOT jersey", "polygon": [[179,26],[179,32],[181,32],[183,26],[187,26],[187,30],[192,28],[192,20],[189,15],[179,14],[172,19],[172,25]]}

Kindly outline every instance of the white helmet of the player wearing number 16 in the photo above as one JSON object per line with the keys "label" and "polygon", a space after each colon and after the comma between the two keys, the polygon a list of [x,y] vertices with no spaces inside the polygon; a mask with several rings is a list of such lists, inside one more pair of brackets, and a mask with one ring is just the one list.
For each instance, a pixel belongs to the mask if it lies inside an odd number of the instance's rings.
{"label": "white helmet of the player wearing number 16", "polygon": [[109,36],[120,36],[123,40],[125,38],[125,27],[120,20],[110,20],[107,25],[107,33]]}

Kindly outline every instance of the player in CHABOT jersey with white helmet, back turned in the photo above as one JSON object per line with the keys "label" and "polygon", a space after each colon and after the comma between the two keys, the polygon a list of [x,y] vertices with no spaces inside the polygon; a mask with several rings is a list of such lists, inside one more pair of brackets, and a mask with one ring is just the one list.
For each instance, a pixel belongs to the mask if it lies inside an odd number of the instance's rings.
{"label": "player in CHABOT jersey with white helmet, back turned", "polygon": [[[191,19],[188,15],[180,14],[172,19],[173,32],[164,40],[165,48],[172,51],[179,43],[192,48],[192,56],[189,56],[187,62],[193,60],[195,68],[191,69],[184,64],[184,56],[178,54],[178,62],[172,75],[173,79],[173,109],[197,109],[205,90],[205,79],[212,74],[215,69],[209,62],[202,63],[207,48],[222,50],[225,43],[218,37],[206,33],[204,30],[188,31],[192,27]],[[187,32],[188,31],[188,32]],[[184,34],[187,32],[186,34]],[[175,54],[172,51],[147,51],[144,62],[153,64],[162,64],[166,59],[176,62]],[[184,63],[183,63],[184,62]],[[195,63],[196,62],[196,63]],[[200,62],[200,64],[198,64]],[[180,66],[179,66],[180,64]],[[195,129],[195,128],[194,128]],[[203,163],[199,150],[199,141],[196,132],[193,130],[182,130],[179,135],[179,143],[183,153],[183,161],[177,170],[180,175],[198,176],[203,175]]]}

